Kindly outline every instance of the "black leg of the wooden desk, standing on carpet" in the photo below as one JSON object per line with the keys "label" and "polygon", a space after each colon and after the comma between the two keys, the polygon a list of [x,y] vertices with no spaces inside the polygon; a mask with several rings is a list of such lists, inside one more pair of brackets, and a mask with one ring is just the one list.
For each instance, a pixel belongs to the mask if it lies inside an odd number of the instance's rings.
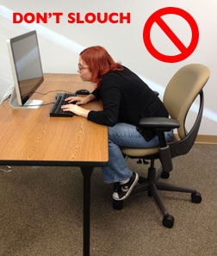
{"label": "black leg of the wooden desk, standing on carpet", "polygon": [[90,255],[90,177],[93,167],[81,167],[84,177],[83,255]]}

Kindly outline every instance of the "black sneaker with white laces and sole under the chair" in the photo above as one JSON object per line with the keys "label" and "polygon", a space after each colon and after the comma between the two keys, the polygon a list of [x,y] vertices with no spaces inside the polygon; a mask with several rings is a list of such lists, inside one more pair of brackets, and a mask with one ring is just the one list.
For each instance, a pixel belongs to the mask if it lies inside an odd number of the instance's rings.
{"label": "black sneaker with white laces and sole under the chair", "polygon": [[139,175],[136,172],[133,172],[130,180],[126,184],[118,184],[115,188],[112,198],[116,201],[121,201],[129,197],[133,187],[137,184],[139,180]]}

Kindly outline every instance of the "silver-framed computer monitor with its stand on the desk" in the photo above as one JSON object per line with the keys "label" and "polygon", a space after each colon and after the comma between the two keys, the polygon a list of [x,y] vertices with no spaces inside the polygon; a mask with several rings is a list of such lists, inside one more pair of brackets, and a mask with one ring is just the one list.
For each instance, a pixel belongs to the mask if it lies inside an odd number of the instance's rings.
{"label": "silver-framed computer monitor with its stand on the desk", "polygon": [[36,31],[7,40],[14,78],[10,106],[15,109],[39,109],[40,100],[29,100],[44,81]]}

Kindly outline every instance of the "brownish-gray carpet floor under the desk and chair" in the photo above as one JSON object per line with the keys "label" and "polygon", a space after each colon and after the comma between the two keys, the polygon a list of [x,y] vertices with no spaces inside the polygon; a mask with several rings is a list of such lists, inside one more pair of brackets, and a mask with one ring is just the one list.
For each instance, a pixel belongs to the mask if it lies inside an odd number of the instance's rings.
{"label": "brownish-gray carpet floor under the desk and chair", "polygon": [[[147,165],[134,159],[127,164],[146,176]],[[103,184],[96,168],[90,255],[216,256],[216,164],[216,145],[195,145],[188,155],[173,159],[174,170],[165,182],[202,193],[202,203],[195,204],[189,194],[160,191],[175,217],[173,228],[164,228],[146,193],[127,198],[120,211],[113,209],[113,186]],[[13,166],[12,172],[0,172],[0,255],[83,255],[83,177],[78,168]]]}

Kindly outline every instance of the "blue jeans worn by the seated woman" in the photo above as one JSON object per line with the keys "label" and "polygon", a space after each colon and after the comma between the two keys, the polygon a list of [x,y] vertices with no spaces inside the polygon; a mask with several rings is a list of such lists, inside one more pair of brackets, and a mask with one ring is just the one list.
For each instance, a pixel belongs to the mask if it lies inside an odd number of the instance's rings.
{"label": "blue jeans worn by the seated woman", "polygon": [[[173,131],[164,134],[165,140],[170,141]],[[158,147],[158,136],[147,142],[134,125],[119,122],[114,127],[109,127],[109,165],[102,167],[102,176],[107,184],[120,182],[132,176],[119,146]]]}

